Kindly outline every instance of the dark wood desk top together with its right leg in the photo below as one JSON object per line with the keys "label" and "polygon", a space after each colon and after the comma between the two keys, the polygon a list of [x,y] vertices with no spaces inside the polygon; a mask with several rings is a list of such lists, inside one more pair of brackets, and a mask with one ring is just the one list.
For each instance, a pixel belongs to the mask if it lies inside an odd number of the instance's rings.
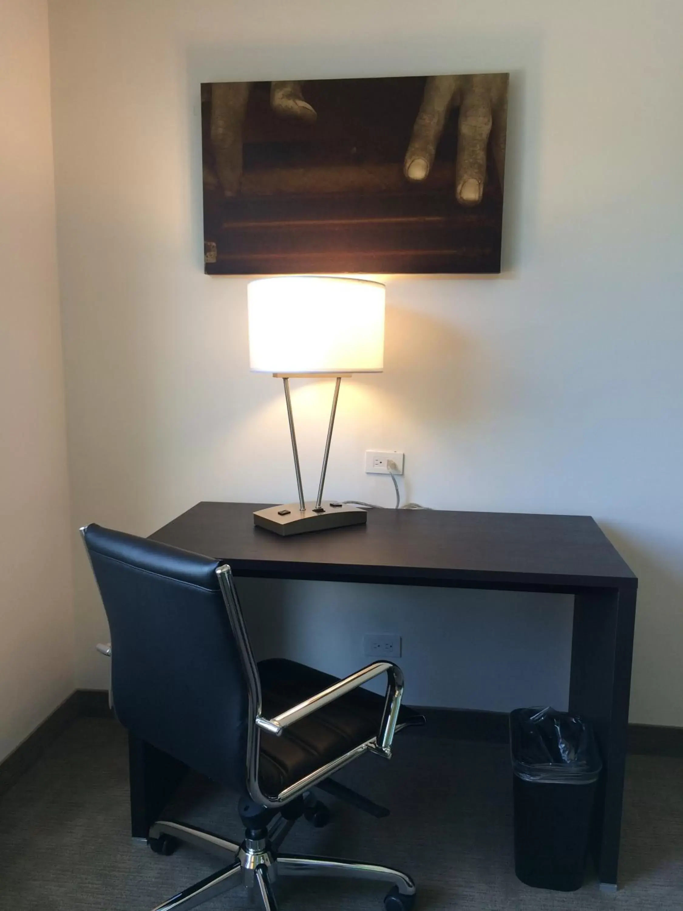
{"label": "dark wood desk top together with its right leg", "polygon": [[365,526],[279,537],[253,525],[268,505],[199,503],[150,537],[227,559],[235,576],[574,595],[569,711],[596,727],[605,773],[594,856],[601,883],[616,886],[637,578],[596,522],[376,509]]}

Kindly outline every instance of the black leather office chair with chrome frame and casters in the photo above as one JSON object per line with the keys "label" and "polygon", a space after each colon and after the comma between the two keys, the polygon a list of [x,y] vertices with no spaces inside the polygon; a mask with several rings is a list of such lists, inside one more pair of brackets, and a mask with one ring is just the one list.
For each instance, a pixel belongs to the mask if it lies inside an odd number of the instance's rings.
{"label": "black leather office chair with chrome frame and casters", "polygon": [[[287,875],[386,881],[386,911],[411,908],[413,880],[398,870],[280,852],[302,815],[325,822],[314,785],[372,812],[329,776],[364,752],[390,758],[394,732],[423,722],[401,706],[401,670],[376,661],[340,681],[290,660],[257,665],[227,564],[97,525],[81,533],[107,611],[119,721],[240,793],[240,844],[170,820],[151,826],[148,841],[159,853],[180,841],[226,864],[155,911],[194,907],[237,885],[257,888],[266,911],[276,911],[271,883]],[[382,673],[385,697],[359,689]]]}

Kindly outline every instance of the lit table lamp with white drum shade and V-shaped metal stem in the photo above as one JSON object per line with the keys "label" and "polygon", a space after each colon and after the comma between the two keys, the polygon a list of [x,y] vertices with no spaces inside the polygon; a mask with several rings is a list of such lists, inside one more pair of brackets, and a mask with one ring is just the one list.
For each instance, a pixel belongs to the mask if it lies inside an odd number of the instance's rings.
{"label": "lit table lamp with white drum shade and V-shaped metal stem", "polygon": [[[334,415],[342,378],[381,373],[384,361],[384,285],[364,279],[288,275],[250,281],[250,368],[281,378],[290,422],[298,503],[260,509],[254,524],[279,535],[360,525],[364,509],[322,499]],[[292,377],[335,377],[330,425],[316,500],[306,501],[291,411]]]}

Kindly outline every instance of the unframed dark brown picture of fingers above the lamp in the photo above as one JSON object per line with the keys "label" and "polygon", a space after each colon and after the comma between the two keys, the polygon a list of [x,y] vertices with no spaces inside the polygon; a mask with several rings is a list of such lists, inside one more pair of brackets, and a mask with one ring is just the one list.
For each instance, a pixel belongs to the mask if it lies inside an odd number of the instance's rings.
{"label": "unframed dark brown picture of fingers above the lamp", "polygon": [[205,271],[500,272],[507,85],[202,85]]}

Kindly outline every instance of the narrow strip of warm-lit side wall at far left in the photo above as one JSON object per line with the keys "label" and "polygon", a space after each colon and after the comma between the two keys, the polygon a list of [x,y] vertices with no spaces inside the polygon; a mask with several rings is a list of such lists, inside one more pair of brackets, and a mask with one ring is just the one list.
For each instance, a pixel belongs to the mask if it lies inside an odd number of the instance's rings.
{"label": "narrow strip of warm-lit side wall at far left", "polygon": [[0,760],[74,689],[45,0],[0,6]]}

